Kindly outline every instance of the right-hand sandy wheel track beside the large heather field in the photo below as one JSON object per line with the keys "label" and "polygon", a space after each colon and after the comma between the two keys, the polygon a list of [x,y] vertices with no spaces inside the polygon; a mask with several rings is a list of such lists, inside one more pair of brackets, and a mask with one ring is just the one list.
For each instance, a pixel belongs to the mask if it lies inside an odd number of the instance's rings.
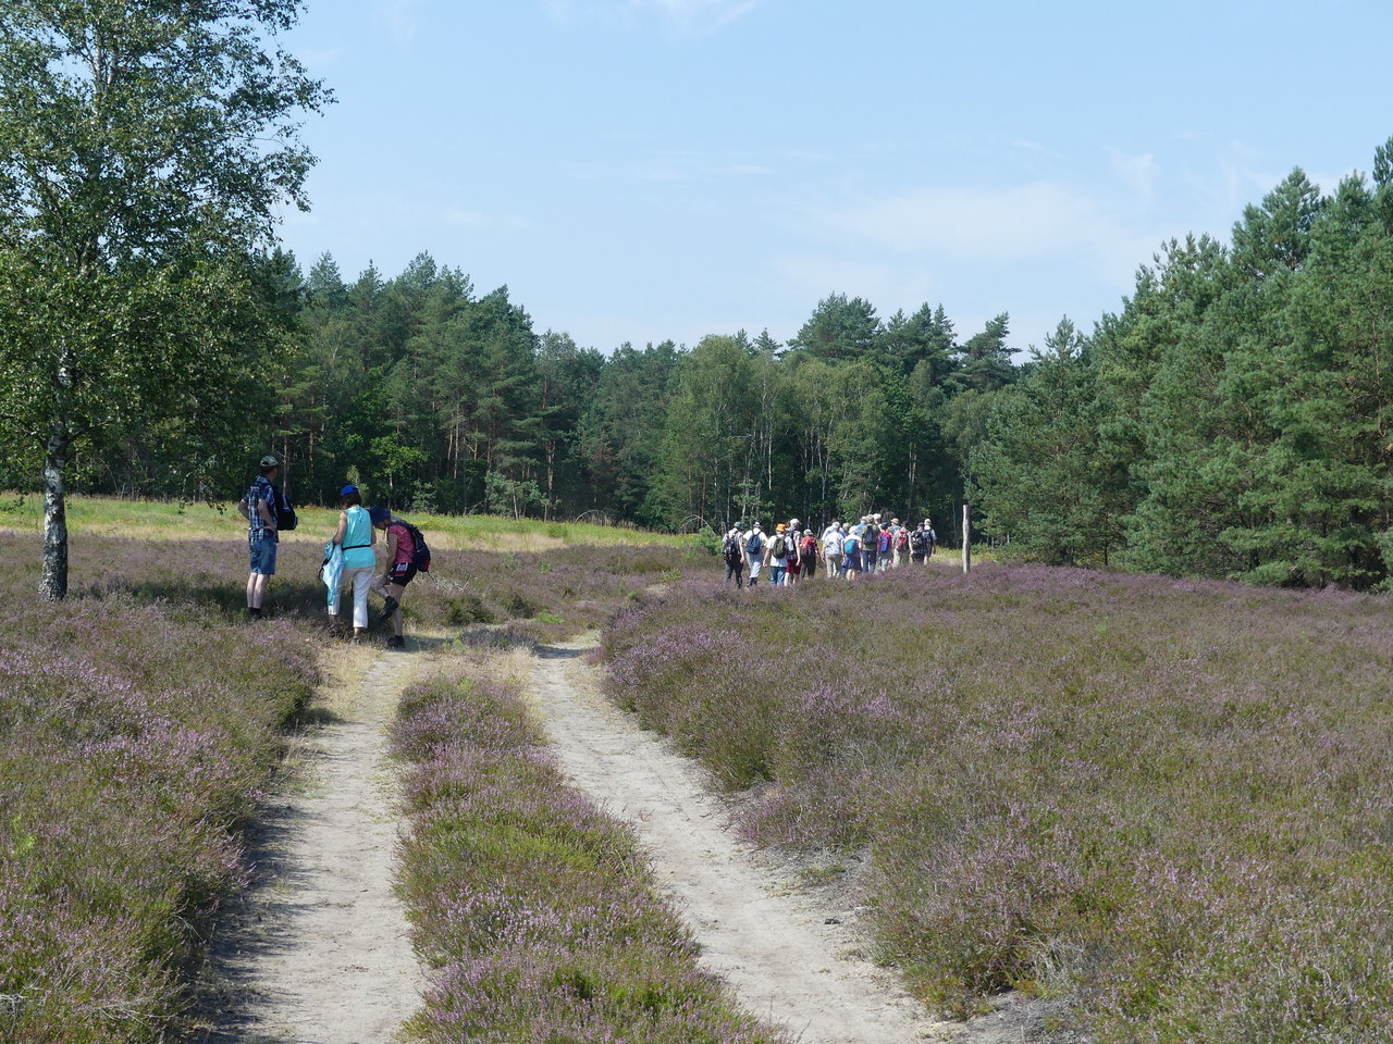
{"label": "right-hand sandy wheel track beside the large heather field", "polygon": [[607,703],[581,643],[543,647],[531,695],[571,781],[628,820],[695,930],[705,966],[804,1044],[943,1038],[893,973],[859,955],[854,910],[829,910],[733,834],[702,770]]}

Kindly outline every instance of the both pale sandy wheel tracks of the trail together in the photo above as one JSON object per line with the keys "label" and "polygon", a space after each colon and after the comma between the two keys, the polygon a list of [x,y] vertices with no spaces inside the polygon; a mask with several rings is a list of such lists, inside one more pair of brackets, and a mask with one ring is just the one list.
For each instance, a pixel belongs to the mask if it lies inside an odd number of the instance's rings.
{"label": "both pale sandy wheel tracks of the trail together", "polygon": [[[929,1019],[865,959],[850,901],[801,888],[797,869],[738,841],[703,770],[603,699],[582,660],[591,647],[536,651],[534,711],[571,782],[632,824],[705,966],[747,1011],[801,1044],[1036,1040],[1007,1012],[975,1026]],[[341,660],[306,714],[302,782],[254,838],[256,883],[215,945],[201,1044],[386,1044],[419,1006],[425,974],[391,888],[403,821],[386,725],[430,660]]]}

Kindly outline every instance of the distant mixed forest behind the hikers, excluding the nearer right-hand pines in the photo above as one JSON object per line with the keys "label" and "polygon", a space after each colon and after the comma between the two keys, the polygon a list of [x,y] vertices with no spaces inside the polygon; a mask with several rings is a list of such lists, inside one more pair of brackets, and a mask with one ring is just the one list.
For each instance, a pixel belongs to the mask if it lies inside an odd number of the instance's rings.
{"label": "distant mixed forest behind the hikers, excluding the nearer right-hand pines", "polygon": [[[242,436],[132,427],[74,462],[88,489],[198,497],[269,445],[299,503],[354,480],[401,509],[659,529],[947,518],[979,401],[1015,376],[1004,315],[958,342],[942,306],[882,322],[841,294],[788,344],[736,333],[605,354],[538,334],[507,287],[479,294],[428,255],[347,281],[329,256],[302,273],[279,253],[260,285],[297,333],[262,359]],[[184,466],[174,447],[192,448]]]}

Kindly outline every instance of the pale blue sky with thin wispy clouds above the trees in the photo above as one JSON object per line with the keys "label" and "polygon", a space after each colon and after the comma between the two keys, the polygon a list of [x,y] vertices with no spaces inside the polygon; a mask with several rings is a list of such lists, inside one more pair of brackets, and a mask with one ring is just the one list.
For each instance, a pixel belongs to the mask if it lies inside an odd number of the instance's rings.
{"label": "pale blue sky with thin wispy clouds above the trees", "polygon": [[1393,135],[1386,0],[309,0],[308,267],[418,253],[610,351],[942,303],[1011,345]]}

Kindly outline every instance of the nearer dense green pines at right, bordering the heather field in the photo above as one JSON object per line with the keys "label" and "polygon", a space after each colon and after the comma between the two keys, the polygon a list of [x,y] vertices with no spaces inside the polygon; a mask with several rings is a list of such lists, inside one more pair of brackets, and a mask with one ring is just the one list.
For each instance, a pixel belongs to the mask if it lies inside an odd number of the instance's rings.
{"label": "nearer dense green pines at right, bordering the heather field", "polygon": [[1368,590],[1393,575],[1393,139],[1372,181],[1294,170],[1230,242],[1173,241],[1091,334],[1064,322],[967,458],[1024,555]]}

